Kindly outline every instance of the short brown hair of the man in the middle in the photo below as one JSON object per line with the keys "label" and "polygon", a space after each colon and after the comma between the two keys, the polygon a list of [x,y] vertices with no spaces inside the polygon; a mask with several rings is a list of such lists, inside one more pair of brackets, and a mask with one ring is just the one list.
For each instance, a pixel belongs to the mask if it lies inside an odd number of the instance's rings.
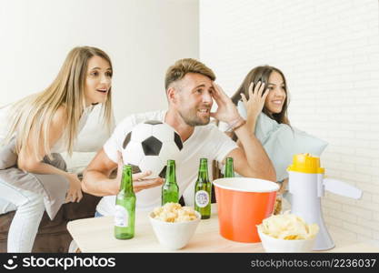
{"label": "short brown hair of the man in the middle", "polygon": [[187,73],[198,73],[209,77],[213,81],[215,80],[214,72],[211,68],[195,59],[185,58],[168,67],[165,74],[165,90],[175,81],[181,80]]}

